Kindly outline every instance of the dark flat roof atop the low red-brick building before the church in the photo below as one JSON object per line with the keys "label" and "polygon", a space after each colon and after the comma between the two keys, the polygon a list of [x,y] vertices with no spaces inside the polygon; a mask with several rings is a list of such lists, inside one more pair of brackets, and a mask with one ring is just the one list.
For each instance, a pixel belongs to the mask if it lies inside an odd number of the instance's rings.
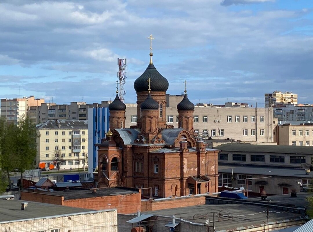
{"label": "dark flat roof atop the low red-brick building before the church", "polygon": [[135,188],[126,188],[126,187],[108,187],[103,189],[96,189],[96,192],[93,193],[91,190],[67,190],[67,191],[44,191],[43,194],[51,194],[57,196],[64,196],[64,200],[73,200],[73,199],[84,199],[92,197],[103,197],[103,196],[116,196],[116,195],[125,195],[125,194],[136,194],[139,193],[139,190]]}

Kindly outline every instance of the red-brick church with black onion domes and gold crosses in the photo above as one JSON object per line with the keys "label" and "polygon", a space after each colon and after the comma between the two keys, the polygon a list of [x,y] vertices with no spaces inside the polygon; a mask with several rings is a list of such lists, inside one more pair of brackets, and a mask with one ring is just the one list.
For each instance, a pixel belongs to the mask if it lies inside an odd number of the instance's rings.
{"label": "red-brick church with black onion domes and gold crosses", "polygon": [[[178,128],[167,125],[169,83],[152,62],[134,82],[137,124],[124,128],[126,105],[110,103],[110,130],[98,147],[97,187],[141,188],[153,198],[218,192],[218,150],[194,137],[194,104],[186,91],[177,104]],[[116,93],[118,91],[116,90]]]}

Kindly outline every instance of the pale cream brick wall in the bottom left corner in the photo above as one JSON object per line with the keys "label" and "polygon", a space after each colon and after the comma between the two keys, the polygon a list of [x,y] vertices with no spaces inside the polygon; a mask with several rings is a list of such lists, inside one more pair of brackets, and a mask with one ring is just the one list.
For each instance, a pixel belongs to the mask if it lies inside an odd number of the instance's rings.
{"label": "pale cream brick wall in the bottom left corner", "polygon": [[59,229],[60,232],[116,232],[117,212],[116,210],[112,210],[87,214],[84,213],[79,215],[69,214],[65,217],[51,217],[34,220],[32,219],[0,224],[0,231],[29,232],[50,231],[53,229]]}

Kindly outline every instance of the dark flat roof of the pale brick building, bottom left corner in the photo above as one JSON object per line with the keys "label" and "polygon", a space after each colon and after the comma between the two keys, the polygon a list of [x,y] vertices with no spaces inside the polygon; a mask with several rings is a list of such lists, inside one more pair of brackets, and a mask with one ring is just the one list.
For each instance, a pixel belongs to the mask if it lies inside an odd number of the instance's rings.
{"label": "dark flat roof of the pale brick building, bottom left corner", "polygon": [[[21,210],[21,203],[27,202],[28,206],[25,210]],[[96,213],[110,210],[92,210],[61,206],[56,204],[46,204],[33,201],[22,200],[6,200],[0,199],[0,223],[8,223],[13,221],[25,221],[49,217],[62,217],[64,215]]]}

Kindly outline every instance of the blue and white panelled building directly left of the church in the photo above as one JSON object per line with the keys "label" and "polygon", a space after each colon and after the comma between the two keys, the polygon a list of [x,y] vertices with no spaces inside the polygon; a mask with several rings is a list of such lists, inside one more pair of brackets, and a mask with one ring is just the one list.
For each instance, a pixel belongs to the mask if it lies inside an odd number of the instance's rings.
{"label": "blue and white panelled building directly left of the church", "polygon": [[97,167],[98,148],[105,133],[109,130],[109,108],[96,107],[88,109],[88,173],[92,175]]}

